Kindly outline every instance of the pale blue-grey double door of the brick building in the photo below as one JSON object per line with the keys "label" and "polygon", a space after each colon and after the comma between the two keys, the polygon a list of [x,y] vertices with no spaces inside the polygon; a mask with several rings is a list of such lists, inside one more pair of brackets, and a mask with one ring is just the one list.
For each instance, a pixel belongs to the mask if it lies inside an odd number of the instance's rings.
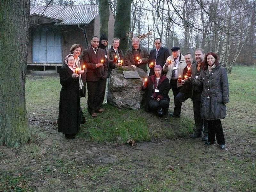
{"label": "pale blue-grey double door of the brick building", "polygon": [[53,31],[34,31],[32,62],[61,63],[61,35]]}

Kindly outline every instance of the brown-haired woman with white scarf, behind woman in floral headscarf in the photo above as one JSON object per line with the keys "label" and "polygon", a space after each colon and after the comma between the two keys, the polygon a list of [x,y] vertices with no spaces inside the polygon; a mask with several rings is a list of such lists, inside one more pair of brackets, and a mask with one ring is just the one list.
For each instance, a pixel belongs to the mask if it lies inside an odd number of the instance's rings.
{"label": "brown-haired woman with white scarf, behind woman in floral headscarf", "polygon": [[81,97],[85,97],[86,93],[86,68],[83,63],[83,60],[80,60],[79,56],[82,52],[82,46],[80,44],[73,44],[70,48],[70,53],[74,56],[75,58],[75,64],[76,67],[78,68],[78,73],[79,73],[79,89],[80,89],[80,95]]}

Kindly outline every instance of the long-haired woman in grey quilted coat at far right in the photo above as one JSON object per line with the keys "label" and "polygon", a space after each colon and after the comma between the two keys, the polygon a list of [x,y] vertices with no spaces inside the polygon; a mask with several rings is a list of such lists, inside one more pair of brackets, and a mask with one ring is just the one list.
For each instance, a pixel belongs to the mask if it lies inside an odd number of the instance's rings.
{"label": "long-haired woman in grey quilted coat at far right", "polygon": [[214,144],[215,135],[220,149],[225,148],[225,139],[220,119],[226,116],[226,103],[229,102],[228,76],[226,69],[219,63],[217,54],[207,53],[202,65],[202,72],[192,84],[203,86],[201,95],[201,117],[208,121],[208,141],[205,145]]}

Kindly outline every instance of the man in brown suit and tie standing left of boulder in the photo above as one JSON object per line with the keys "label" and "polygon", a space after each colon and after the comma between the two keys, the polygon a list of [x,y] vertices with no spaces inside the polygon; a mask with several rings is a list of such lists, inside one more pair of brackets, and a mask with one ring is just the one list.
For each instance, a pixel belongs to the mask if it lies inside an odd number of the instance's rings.
{"label": "man in brown suit and tie standing left of boulder", "polygon": [[83,52],[84,64],[87,68],[86,83],[87,83],[87,105],[88,112],[92,117],[97,117],[96,112],[103,112],[101,108],[106,89],[106,79],[108,68],[105,59],[105,53],[99,47],[99,38],[93,36],[91,46]]}

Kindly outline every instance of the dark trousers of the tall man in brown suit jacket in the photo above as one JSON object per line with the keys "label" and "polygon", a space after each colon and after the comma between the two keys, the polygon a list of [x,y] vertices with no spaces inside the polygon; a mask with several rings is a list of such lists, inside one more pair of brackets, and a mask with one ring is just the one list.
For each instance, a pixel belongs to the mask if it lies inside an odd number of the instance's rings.
{"label": "dark trousers of the tall man in brown suit jacket", "polygon": [[90,114],[95,113],[102,106],[105,97],[106,81],[106,79],[100,79],[99,81],[86,82],[88,90],[87,105]]}

